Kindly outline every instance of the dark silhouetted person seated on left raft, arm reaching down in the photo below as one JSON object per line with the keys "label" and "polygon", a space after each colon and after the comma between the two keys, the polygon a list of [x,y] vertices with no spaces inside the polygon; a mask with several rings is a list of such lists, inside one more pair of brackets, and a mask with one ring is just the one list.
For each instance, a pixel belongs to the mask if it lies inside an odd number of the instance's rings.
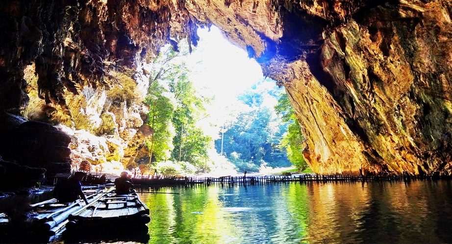
{"label": "dark silhouetted person seated on left raft, arm reaching down", "polygon": [[53,188],[53,197],[55,197],[58,202],[73,202],[80,197],[88,204],[88,200],[86,200],[86,196],[81,190],[80,183],[85,175],[85,172],[77,171],[68,179],[56,183],[55,188]]}

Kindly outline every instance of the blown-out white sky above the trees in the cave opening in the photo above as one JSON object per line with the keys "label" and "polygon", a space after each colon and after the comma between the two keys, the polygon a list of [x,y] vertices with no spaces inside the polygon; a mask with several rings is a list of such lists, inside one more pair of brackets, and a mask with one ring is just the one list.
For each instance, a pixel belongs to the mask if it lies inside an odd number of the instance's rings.
{"label": "blown-out white sky above the trees in the cave opening", "polygon": [[222,36],[216,26],[198,29],[201,40],[189,57],[193,66],[193,81],[200,87],[208,87],[220,102],[251,87],[263,78],[262,70],[248,53]]}

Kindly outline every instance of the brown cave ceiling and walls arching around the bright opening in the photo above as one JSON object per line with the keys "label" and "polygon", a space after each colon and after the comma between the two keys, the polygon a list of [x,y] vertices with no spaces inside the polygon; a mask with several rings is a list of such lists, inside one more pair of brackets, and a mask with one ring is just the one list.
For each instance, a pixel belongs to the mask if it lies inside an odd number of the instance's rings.
{"label": "brown cave ceiling and walls arching around the bright opening", "polygon": [[215,24],[285,87],[315,172],[450,173],[451,12],[447,0],[2,0],[0,111],[133,159],[146,62]]}

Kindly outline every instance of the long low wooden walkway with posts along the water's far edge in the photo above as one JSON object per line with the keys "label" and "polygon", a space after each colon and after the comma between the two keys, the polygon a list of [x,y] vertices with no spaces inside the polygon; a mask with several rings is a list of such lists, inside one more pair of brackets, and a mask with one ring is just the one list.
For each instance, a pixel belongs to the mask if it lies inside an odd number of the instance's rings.
{"label": "long low wooden walkway with posts along the water's far edge", "polygon": [[198,185],[198,184],[269,184],[269,183],[320,183],[320,182],[366,182],[366,181],[411,181],[411,180],[437,180],[451,179],[451,176],[440,175],[266,175],[266,176],[222,176],[222,177],[137,177],[132,178],[136,185]]}

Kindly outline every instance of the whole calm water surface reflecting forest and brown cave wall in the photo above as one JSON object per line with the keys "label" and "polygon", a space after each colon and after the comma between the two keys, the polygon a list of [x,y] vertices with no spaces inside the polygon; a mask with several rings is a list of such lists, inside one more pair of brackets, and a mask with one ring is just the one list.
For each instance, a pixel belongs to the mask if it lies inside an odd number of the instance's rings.
{"label": "whole calm water surface reflecting forest and brown cave wall", "polygon": [[138,242],[452,243],[451,185],[413,181],[159,189],[179,195],[141,195],[151,222],[149,237]]}

